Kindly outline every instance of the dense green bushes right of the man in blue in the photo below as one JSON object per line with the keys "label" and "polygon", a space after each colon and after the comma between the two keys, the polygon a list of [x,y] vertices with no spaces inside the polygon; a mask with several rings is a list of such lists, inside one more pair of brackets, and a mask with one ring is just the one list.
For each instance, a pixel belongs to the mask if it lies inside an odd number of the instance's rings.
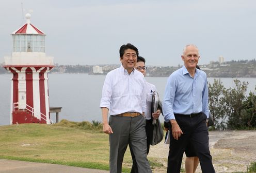
{"label": "dense green bushes right of the man in blue", "polygon": [[[248,82],[234,80],[235,87],[226,89],[220,80],[209,85],[209,109],[214,129],[255,129],[256,95],[246,95]],[[255,87],[256,91],[256,87]]]}

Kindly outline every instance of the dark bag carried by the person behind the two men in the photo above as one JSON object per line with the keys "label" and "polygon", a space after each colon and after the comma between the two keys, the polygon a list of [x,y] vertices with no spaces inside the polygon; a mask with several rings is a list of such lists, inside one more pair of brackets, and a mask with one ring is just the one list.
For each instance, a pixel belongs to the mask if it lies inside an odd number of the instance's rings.
{"label": "dark bag carried by the person behind the two men", "polygon": [[[156,92],[156,91],[154,91]],[[152,103],[151,103],[151,119],[153,122],[153,117],[152,117],[152,112],[154,111],[154,102],[155,102],[155,98],[154,98],[154,92],[152,94]],[[157,93],[157,92],[156,92]],[[158,95],[158,93],[157,93]],[[160,143],[163,138],[164,138],[164,131],[161,125],[161,122],[159,121],[159,119],[156,119],[155,123],[152,124],[152,137],[150,139],[150,145],[156,145],[158,143]]]}

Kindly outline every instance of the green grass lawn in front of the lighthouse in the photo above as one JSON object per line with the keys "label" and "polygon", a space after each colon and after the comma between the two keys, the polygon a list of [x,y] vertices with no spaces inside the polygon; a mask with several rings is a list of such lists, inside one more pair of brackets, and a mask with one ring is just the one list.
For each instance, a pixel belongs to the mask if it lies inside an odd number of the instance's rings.
{"label": "green grass lawn in front of the lighthouse", "polygon": [[[0,126],[0,158],[109,170],[108,135],[101,131],[89,122]],[[131,165],[128,149],[123,172]]]}

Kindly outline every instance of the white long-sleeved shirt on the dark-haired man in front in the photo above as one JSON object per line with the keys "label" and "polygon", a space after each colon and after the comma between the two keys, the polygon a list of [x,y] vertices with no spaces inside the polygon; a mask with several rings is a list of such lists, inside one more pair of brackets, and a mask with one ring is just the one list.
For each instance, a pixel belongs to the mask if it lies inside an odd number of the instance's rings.
{"label": "white long-sleeved shirt on the dark-haired man in front", "polygon": [[146,111],[145,78],[137,70],[130,74],[121,66],[107,73],[102,88],[100,107],[109,109],[111,116],[125,112]]}

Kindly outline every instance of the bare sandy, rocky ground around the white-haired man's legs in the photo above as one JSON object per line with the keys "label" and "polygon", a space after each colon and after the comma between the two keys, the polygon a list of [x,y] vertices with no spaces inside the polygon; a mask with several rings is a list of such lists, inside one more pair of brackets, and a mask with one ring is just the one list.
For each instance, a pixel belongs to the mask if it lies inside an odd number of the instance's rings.
{"label": "bare sandy, rocky ground around the white-haired man's legs", "polygon": [[[246,171],[251,162],[256,162],[256,130],[210,131],[209,146],[215,171],[218,173]],[[164,166],[155,173],[166,172],[169,145],[161,143],[151,146],[148,157],[157,158]],[[184,168],[184,159],[182,167]],[[200,166],[197,173],[201,172]]]}

